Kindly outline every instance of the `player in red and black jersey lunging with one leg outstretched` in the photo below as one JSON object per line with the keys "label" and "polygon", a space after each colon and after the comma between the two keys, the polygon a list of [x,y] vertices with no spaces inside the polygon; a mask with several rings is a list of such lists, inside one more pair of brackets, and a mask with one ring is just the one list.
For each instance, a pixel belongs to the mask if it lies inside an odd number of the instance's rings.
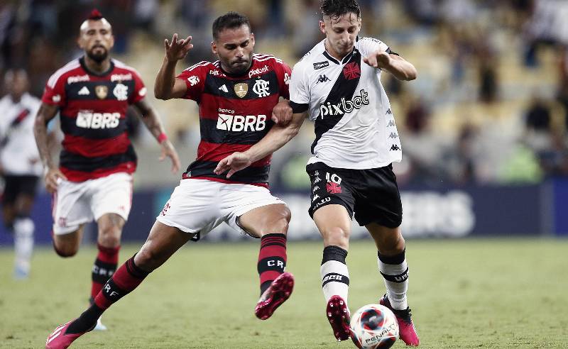
{"label": "player in red and black jersey lunging with one leg outstretched", "polygon": [[[271,155],[227,179],[216,173],[219,160],[251,148],[273,128],[285,128],[292,116],[288,101],[290,67],[272,55],[253,53],[254,34],[248,18],[229,12],[213,23],[212,52],[217,62],[200,62],[177,77],[175,66],[191,50],[191,37],[165,40],[165,57],[155,82],[159,99],[183,98],[200,107],[201,141],[197,160],[187,167],[180,185],[160,213],[141,250],[119,267],[75,321],[53,331],[47,348],[67,348],[91,331],[97,318],[138,287],[188,240],[199,240],[220,223],[261,239],[257,270],[261,297],[258,318],[269,318],[290,297],[293,275],[285,272],[286,233],[290,210],[268,190]],[[275,106],[288,108],[281,118]],[[288,129],[288,128],[286,128]],[[235,299],[227,285],[227,299]]]}

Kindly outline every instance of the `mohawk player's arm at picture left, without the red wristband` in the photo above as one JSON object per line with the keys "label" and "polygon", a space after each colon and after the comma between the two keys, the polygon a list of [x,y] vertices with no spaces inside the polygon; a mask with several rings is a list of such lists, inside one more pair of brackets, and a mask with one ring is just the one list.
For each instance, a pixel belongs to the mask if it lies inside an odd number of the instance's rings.
{"label": "mohawk player's arm at picture left, without the red wristband", "polygon": [[35,143],[38,145],[41,162],[43,163],[43,174],[45,189],[53,193],[58,189],[60,180],[65,179],[65,174],[58,169],[53,163],[49,146],[48,123],[51,119],[55,118],[59,110],[58,106],[51,106],[50,104],[42,103],[38,114],[35,116],[33,124],[33,135],[35,135]]}

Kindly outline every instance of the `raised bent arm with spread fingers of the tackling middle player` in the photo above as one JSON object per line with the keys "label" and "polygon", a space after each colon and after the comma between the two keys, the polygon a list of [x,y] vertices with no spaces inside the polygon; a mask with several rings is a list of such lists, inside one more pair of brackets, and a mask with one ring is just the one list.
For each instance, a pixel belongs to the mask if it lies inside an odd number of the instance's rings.
{"label": "raised bent arm with spread fingers of the tackling middle player", "polygon": [[182,60],[193,48],[191,36],[181,40],[178,33],[172,37],[172,42],[164,40],[165,56],[158,75],[155,77],[154,95],[157,99],[181,98],[187,91],[185,82],[175,79],[175,65]]}

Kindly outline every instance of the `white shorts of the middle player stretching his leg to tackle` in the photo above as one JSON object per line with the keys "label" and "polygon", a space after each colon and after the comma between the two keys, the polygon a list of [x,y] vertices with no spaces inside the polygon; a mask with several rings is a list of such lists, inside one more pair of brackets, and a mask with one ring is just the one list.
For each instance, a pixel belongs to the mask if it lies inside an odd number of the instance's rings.
{"label": "white shorts of the middle player stretching his leg to tackle", "polygon": [[200,233],[200,236],[222,222],[239,233],[247,233],[239,226],[237,218],[271,204],[285,203],[265,187],[182,179],[156,220],[186,233]]}

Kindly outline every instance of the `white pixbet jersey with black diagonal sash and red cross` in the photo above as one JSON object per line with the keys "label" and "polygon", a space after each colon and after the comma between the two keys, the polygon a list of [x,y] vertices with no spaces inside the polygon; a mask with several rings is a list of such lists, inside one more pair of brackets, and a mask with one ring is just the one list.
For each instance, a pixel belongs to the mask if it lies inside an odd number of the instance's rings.
{"label": "white pixbet jersey with black diagonal sash and red cross", "polygon": [[357,38],[354,50],[339,62],[318,43],[297,62],[290,80],[294,113],[308,111],[315,123],[313,157],[308,163],[356,170],[400,162],[400,139],[381,70],[363,58],[387,45]]}

